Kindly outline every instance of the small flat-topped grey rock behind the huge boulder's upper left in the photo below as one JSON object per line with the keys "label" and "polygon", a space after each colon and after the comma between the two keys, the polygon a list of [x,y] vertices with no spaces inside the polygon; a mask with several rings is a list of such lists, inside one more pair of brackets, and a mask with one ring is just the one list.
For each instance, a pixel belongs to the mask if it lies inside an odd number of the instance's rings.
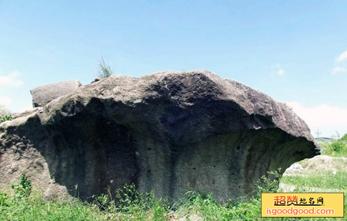
{"label": "small flat-topped grey rock behind the huge boulder's upper left", "polygon": [[82,84],[78,80],[69,80],[50,85],[35,87],[30,92],[33,95],[33,107],[43,107],[60,96],[71,94]]}

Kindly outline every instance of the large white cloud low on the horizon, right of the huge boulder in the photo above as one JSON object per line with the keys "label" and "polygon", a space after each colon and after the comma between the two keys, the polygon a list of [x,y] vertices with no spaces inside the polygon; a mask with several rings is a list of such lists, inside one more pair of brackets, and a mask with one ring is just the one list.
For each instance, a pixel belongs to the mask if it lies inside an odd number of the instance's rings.
{"label": "large white cloud low on the horizon, right of the huge boulder", "polygon": [[287,102],[296,114],[301,117],[314,131],[325,130],[324,136],[331,136],[337,130],[341,134],[347,133],[347,108],[334,107],[330,105],[319,105],[316,107],[303,107],[296,101]]}

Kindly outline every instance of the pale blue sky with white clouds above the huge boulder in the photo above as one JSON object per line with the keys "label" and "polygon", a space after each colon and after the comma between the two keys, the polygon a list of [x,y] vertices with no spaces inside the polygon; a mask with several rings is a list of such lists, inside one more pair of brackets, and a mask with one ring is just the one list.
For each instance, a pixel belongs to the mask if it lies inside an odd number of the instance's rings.
{"label": "pale blue sky with white clouds above the huge boulder", "polygon": [[1,1],[0,104],[116,73],[208,69],[287,102],[321,136],[347,133],[347,1]]}

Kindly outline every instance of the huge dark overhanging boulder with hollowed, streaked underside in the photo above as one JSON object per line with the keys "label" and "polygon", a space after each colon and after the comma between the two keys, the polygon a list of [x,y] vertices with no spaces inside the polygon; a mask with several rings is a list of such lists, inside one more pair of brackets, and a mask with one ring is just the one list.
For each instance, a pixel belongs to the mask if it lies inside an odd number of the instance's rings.
{"label": "huge dark overhanging boulder with hollowed, streaked underside", "polygon": [[24,172],[46,195],[82,199],[134,183],[225,201],[319,154],[290,107],[204,70],[110,76],[1,124],[0,137],[0,186]]}

